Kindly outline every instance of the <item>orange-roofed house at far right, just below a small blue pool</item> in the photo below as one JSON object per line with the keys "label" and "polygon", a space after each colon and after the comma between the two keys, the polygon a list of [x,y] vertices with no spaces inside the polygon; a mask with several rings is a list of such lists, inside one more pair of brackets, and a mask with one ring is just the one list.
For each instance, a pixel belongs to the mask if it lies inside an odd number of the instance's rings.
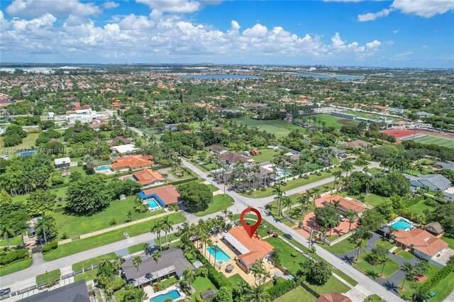
{"label": "orange-roofed house at far right, just below a small blue pool", "polygon": [[409,232],[397,230],[393,235],[398,247],[402,247],[404,250],[413,249],[414,255],[429,262],[433,262],[431,260],[434,257],[436,258],[438,254],[448,248],[448,243],[420,228],[414,228]]}

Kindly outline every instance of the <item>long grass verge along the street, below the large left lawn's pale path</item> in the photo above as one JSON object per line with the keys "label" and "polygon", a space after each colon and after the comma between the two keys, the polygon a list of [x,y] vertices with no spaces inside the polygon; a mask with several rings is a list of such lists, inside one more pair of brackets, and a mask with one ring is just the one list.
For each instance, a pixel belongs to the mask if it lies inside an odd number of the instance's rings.
{"label": "long grass verge along the street, below the large left lawn's pale path", "polygon": [[[182,223],[186,220],[182,213],[172,213],[167,217],[169,217],[172,224]],[[90,250],[94,247],[100,247],[101,245],[108,245],[112,242],[124,240],[126,237],[123,235],[123,232],[128,233],[131,237],[148,233],[150,232],[150,228],[158,220],[160,220],[160,218],[130,225],[126,228],[120,228],[101,235],[87,237],[82,240],[76,240],[74,242],[66,243],[65,245],[60,245],[57,249],[45,254],[44,259],[45,261],[52,261],[61,257],[76,254],[78,252],[83,252],[84,250]]]}

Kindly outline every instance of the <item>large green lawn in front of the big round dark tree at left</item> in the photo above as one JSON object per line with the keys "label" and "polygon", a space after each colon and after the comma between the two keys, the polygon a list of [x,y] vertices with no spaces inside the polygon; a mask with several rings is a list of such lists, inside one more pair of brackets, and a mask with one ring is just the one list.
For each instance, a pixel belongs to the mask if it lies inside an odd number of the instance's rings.
{"label": "large green lawn in front of the big round dark tree at left", "polygon": [[92,216],[75,216],[65,212],[57,212],[55,213],[55,218],[57,218],[58,232],[60,234],[67,232],[70,234],[70,237],[73,237],[94,232],[96,230],[102,230],[104,228],[110,228],[112,218],[116,219],[117,224],[125,223],[126,215],[130,210],[133,213],[133,220],[155,216],[157,215],[156,213],[164,212],[164,210],[162,210],[138,213],[134,210],[134,207],[134,196],[128,196],[124,201],[112,201],[109,208]]}

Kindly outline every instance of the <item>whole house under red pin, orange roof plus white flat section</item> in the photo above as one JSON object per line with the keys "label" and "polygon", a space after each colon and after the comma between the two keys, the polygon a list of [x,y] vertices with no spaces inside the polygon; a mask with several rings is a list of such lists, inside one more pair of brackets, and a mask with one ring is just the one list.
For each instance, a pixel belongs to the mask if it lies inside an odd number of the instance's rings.
{"label": "whole house under red pin, orange roof plus white flat section", "polygon": [[270,243],[260,239],[258,233],[249,237],[242,226],[236,226],[223,235],[223,242],[238,255],[236,263],[246,273],[251,265],[260,259],[267,259],[274,250]]}

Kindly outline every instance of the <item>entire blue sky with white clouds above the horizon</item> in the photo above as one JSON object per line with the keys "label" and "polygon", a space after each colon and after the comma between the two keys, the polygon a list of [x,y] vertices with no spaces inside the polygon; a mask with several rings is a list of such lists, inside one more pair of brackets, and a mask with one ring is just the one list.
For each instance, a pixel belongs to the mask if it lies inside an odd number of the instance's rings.
{"label": "entire blue sky with white clouds above the horizon", "polygon": [[1,62],[454,67],[453,0],[0,1]]}

